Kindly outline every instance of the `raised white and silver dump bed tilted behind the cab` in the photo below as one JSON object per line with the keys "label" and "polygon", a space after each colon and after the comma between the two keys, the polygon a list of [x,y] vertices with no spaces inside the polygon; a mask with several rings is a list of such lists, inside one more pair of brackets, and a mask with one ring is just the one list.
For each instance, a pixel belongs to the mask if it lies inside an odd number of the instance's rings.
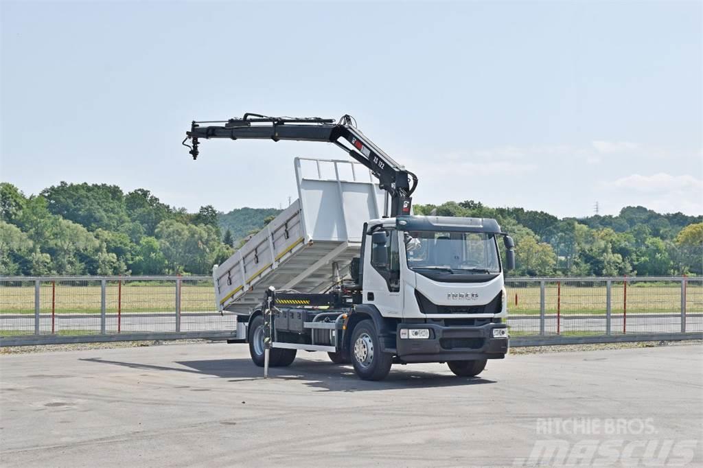
{"label": "raised white and silver dump bed tilted behind the cab", "polygon": [[251,313],[264,290],[324,292],[359,255],[361,230],[382,216],[384,195],[362,164],[295,158],[298,200],[221,265],[214,266],[220,310]]}

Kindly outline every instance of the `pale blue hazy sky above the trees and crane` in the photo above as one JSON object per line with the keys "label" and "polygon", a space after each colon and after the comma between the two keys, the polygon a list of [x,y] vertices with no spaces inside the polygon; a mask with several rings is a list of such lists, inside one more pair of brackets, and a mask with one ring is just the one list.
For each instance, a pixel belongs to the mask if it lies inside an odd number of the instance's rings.
{"label": "pale blue hazy sky above the trees and crane", "polygon": [[703,2],[0,1],[0,181],[285,207],[296,156],[191,120],[356,117],[415,203],[703,214]]}

